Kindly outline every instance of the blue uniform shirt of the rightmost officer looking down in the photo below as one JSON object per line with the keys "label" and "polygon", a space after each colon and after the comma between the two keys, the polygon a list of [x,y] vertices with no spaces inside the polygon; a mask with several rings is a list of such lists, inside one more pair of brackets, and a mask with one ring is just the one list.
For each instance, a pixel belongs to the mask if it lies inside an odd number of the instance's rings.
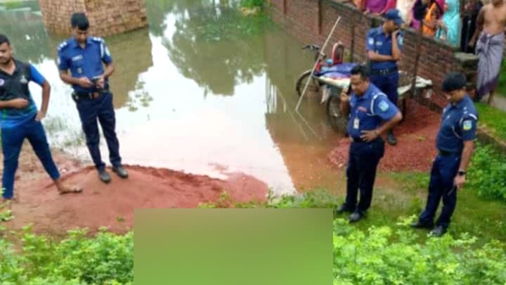
{"label": "blue uniform shirt of the rightmost officer looking down", "polygon": [[469,96],[453,104],[449,103],[443,110],[441,129],[439,129],[436,146],[439,151],[461,153],[464,141],[476,138],[478,112]]}

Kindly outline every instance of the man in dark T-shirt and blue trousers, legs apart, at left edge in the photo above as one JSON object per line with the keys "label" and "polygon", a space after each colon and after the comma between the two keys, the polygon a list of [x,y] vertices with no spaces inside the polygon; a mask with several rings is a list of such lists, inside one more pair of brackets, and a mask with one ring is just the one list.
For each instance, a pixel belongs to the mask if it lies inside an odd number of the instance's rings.
{"label": "man in dark T-shirt and blue trousers, legs apart, at left edge", "polygon": [[[30,81],[42,87],[42,106],[32,99],[28,84]],[[1,147],[4,154],[2,173],[3,202],[14,195],[15,172],[18,170],[23,141],[28,139],[44,169],[53,179],[60,194],[80,192],[77,186],[66,186],[60,181],[60,172],[51,156],[46,132],[41,120],[46,116],[51,87],[33,65],[17,61],[12,57],[8,38],[0,34],[0,127]]]}

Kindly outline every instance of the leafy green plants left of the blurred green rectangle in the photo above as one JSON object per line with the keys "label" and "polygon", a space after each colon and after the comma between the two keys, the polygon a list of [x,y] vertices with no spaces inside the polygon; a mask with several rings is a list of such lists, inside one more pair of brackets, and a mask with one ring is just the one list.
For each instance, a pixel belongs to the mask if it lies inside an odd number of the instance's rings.
{"label": "leafy green plants left of the blurred green rectangle", "polygon": [[134,234],[100,232],[89,238],[85,229],[68,232],[62,241],[32,233],[20,236],[19,253],[0,239],[0,284],[131,284],[134,279]]}

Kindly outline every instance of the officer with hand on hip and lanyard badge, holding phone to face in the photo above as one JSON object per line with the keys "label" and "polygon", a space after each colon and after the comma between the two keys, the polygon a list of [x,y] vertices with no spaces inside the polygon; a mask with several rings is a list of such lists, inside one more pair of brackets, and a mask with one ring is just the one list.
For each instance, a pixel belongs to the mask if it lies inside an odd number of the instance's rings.
{"label": "officer with hand on hip and lanyard badge, holding phone to face", "polygon": [[[402,115],[380,89],[369,81],[365,66],[357,65],[351,70],[350,96],[341,95],[341,111],[349,114],[349,148],[346,201],[336,213],[349,212],[350,222],[361,220],[372,200],[372,187],[376,168],[384,155],[382,135],[401,122]],[[357,194],[360,189],[360,201]]]}

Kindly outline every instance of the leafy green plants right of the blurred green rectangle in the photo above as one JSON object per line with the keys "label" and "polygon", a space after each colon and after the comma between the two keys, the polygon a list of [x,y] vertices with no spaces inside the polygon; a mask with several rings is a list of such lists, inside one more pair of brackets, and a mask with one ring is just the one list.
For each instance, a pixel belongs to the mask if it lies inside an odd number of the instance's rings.
{"label": "leafy green plants right of the blurred green rectangle", "polygon": [[416,242],[413,231],[370,227],[362,232],[335,220],[334,284],[505,284],[505,248],[473,248],[463,234]]}

